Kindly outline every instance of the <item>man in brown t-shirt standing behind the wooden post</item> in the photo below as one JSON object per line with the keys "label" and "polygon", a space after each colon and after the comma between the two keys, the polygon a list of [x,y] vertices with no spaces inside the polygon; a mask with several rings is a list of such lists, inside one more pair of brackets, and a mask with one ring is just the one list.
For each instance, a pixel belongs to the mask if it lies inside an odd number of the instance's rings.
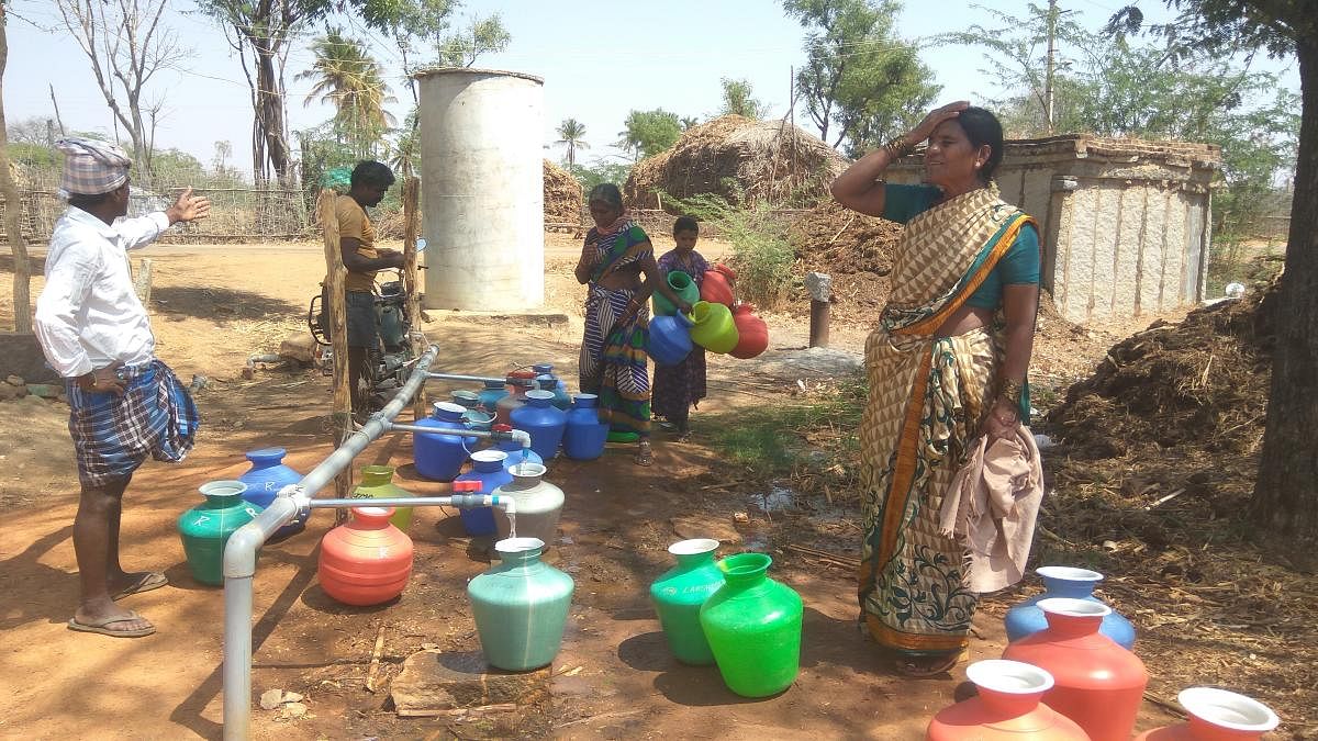
{"label": "man in brown t-shirt standing behind the wooden post", "polygon": [[362,419],[370,414],[370,372],[368,351],[380,344],[376,327],[376,272],[402,268],[403,254],[395,249],[376,248],[376,227],[366,215],[368,206],[378,206],[385,191],[394,185],[394,173],[384,162],[362,161],[352,170],[352,187],[335,202],[339,219],[339,249],[344,280],[344,306],[348,315],[348,384],[352,389],[352,413]]}

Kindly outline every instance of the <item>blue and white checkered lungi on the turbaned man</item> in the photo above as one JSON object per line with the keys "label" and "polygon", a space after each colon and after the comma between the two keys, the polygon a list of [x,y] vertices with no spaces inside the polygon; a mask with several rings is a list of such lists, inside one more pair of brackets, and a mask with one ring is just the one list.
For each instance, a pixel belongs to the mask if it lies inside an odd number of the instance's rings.
{"label": "blue and white checkered lungi on the turbaned man", "polygon": [[103,487],[137,471],[146,455],[178,463],[192,450],[196,405],[174,372],[159,360],[124,367],[124,396],[69,392],[69,434],[78,454],[78,479]]}

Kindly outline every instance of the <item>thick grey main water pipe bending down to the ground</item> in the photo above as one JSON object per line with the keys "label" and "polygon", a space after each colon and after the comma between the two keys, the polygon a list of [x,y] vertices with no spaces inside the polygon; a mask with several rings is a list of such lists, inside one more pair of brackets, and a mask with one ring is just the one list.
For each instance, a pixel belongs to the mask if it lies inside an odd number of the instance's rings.
{"label": "thick grey main water pipe bending down to the ground", "polygon": [[256,552],[272,533],[310,506],[310,500],[361,451],[385,432],[389,422],[420,388],[439,348],[420,356],[407,382],[385,409],[336,448],[320,465],[301,481],[285,487],[254,519],[239,527],[224,546],[224,738],[243,741],[248,737],[252,716],[252,579],[256,575]]}

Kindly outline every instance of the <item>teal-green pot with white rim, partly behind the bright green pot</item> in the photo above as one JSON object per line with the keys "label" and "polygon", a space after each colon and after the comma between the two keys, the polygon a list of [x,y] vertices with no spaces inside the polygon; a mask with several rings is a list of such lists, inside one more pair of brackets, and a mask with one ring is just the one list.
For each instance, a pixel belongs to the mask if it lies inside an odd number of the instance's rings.
{"label": "teal-green pot with white rim, partly behind the bright green pot", "polygon": [[668,649],[681,663],[714,663],[714,653],[700,626],[700,608],[724,585],[724,572],[714,566],[716,550],[718,541],[713,538],[677,541],[668,546],[677,566],[650,585],[650,599],[659,613]]}

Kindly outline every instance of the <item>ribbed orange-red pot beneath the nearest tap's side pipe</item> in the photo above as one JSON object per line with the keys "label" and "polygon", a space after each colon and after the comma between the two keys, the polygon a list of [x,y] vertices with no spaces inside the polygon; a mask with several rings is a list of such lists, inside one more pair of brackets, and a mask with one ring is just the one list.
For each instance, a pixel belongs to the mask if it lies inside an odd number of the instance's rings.
{"label": "ribbed orange-red pot beneath the nearest tap's side pipe", "polygon": [[320,541],[320,588],[347,605],[378,605],[403,593],[413,545],[389,523],[391,506],[356,506],[352,519]]}

